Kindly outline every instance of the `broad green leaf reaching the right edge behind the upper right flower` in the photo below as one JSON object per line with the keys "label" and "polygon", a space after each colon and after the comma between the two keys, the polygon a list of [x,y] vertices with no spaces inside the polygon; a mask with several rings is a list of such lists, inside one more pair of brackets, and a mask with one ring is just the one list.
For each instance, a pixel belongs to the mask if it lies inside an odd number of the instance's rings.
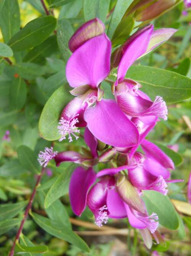
{"label": "broad green leaf reaching the right edge behind the upper right flower", "polygon": [[191,97],[191,79],[171,71],[149,66],[131,66],[126,78],[140,83],[141,90],[153,100],[156,95],[162,96],[168,103]]}

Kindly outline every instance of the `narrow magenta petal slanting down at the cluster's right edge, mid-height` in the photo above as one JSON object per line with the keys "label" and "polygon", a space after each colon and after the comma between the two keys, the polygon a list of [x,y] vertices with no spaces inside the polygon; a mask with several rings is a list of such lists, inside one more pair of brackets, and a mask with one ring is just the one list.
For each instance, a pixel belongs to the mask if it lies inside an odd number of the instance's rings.
{"label": "narrow magenta petal slanting down at the cluster's right edge, mid-height", "polygon": [[152,159],[155,159],[155,161],[159,162],[163,167],[174,169],[174,163],[166,155],[157,145],[153,144],[152,142],[144,139],[141,142],[141,147],[143,151],[145,152],[146,156]]}

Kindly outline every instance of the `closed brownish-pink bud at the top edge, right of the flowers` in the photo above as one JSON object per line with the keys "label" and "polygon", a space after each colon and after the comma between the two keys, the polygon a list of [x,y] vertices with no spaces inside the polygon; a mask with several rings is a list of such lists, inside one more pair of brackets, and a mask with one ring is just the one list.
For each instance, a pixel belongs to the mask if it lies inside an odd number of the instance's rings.
{"label": "closed brownish-pink bud at the top edge, right of the flowers", "polygon": [[159,0],[153,4],[149,3],[138,8],[134,14],[134,18],[136,21],[152,20],[168,10],[170,7],[173,7],[175,3],[176,0]]}

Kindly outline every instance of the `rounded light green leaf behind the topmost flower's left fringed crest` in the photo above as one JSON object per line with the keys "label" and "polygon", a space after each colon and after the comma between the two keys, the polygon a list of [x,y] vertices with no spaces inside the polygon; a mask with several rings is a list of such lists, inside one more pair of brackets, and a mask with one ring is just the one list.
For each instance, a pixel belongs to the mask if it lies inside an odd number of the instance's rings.
{"label": "rounded light green leaf behind the topmost flower's left fringed crest", "polygon": [[46,140],[58,140],[61,137],[57,127],[63,108],[73,99],[69,90],[70,88],[67,84],[58,88],[42,110],[39,120],[39,132],[41,137]]}

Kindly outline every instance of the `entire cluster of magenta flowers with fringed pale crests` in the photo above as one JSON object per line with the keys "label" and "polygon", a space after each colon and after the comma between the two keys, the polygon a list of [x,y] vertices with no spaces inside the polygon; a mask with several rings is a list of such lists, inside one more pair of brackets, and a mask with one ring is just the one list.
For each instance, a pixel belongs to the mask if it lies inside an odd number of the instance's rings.
{"label": "entire cluster of magenta flowers with fringed pale crests", "polygon": [[[69,187],[76,215],[80,216],[87,205],[98,226],[107,223],[108,218],[128,218],[133,227],[144,230],[141,234],[152,234],[156,241],[159,218],[154,212],[148,215],[142,192],[155,190],[167,195],[167,183],[178,180],[169,180],[172,160],[145,137],[159,118],[167,120],[167,106],[160,96],[152,101],[140,90],[141,84],[126,78],[126,72],[134,61],[167,41],[175,31],[154,31],[153,25],[148,25],[111,55],[112,43],[99,19],[81,26],[69,41],[72,55],[66,65],[66,78],[75,97],[63,109],[58,130],[60,141],[68,135],[72,142],[73,137],[79,137],[79,127],[85,127],[89,150],[83,154],[58,153],[46,148],[39,154],[40,165],[44,166],[51,159],[57,166],[65,161],[80,164]],[[114,97],[105,99],[101,83],[117,66]],[[142,152],[137,150],[139,146]],[[99,162],[108,162],[110,168],[96,173],[93,166]]]}

